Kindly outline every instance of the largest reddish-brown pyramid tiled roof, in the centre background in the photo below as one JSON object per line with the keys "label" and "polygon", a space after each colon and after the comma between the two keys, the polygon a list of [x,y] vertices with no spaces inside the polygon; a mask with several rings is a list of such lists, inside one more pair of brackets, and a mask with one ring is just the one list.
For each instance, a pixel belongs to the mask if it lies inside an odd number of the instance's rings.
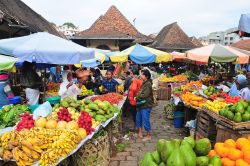
{"label": "largest reddish-brown pyramid tiled roof, in the centre background", "polygon": [[151,40],[141,34],[115,6],[111,6],[105,15],[100,16],[89,29],[80,32],[76,37]]}

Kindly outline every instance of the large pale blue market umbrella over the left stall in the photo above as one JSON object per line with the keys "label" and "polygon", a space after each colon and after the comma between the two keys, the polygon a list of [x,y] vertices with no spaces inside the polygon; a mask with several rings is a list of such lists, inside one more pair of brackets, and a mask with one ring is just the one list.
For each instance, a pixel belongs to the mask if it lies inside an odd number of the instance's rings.
{"label": "large pale blue market umbrella over the left stall", "polygon": [[77,64],[94,59],[93,49],[47,32],[0,40],[0,53],[15,56],[20,61],[46,64]]}

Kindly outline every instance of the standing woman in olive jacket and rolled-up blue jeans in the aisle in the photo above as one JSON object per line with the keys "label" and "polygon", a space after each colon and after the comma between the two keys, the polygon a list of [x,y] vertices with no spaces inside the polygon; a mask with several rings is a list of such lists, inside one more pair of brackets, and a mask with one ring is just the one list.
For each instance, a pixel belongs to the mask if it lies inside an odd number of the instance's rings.
{"label": "standing woman in olive jacket and rolled-up blue jeans in the aisle", "polygon": [[153,89],[151,74],[148,70],[141,71],[141,80],[143,81],[140,91],[136,96],[136,128],[138,129],[138,137],[142,138],[142,124],[147,132],[143,141],[151,140],[151,124],[150,124],[150,112],[153,106]]}

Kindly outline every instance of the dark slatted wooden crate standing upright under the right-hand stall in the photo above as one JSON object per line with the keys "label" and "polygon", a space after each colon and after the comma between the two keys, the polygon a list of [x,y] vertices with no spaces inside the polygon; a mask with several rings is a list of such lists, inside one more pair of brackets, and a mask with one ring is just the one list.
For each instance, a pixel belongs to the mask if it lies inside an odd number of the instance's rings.
{"label": "dark slatted wooden crate standing upright under the right-hand stall", "polygon": [[197,133],[199,137],[208,138],[212,143],[216,140],[216,122],[204,110],[199,111],[197,114],[196,134]]}

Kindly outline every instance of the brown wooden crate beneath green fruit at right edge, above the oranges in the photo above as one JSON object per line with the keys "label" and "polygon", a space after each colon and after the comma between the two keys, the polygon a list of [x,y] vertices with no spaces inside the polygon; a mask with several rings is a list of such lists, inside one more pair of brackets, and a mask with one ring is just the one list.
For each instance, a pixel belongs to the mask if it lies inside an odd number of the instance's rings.
{"label": "brown wooden crate beneath green fruit at right edge, above the oranges", "polygon": [[235,130],[232,128],[228,128],[221,124],[217,124],[217,136],[216,142],[224,142],[227,139],[234,139],[240,137],[247,137],[250,135],[250,130]]}

